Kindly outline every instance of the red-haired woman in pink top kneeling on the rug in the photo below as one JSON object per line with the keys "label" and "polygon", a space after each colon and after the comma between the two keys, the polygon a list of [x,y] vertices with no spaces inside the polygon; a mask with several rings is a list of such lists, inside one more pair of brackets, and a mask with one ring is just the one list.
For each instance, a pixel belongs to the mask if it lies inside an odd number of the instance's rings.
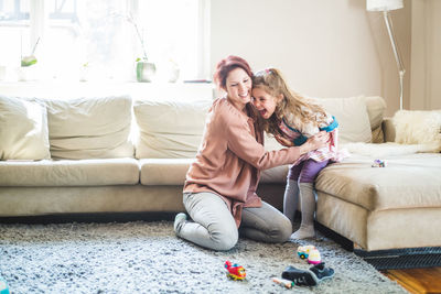
{"label": "red-haired woman in pink top kneeling on the rug", "polygon": [[217,64],[214,79],[226,97],[213,102],[183,190],[193,221],[185,214],[174,220],[176,236],[214,250],[232,249],[239,231],[258,241],[287,241],[290,220],[256,195],[260,171],[295,162],[329,139],[321,132],[301,146],[265,151],[258,113],[250,104],[251,77],[251,68],[240,57],[228,56]]}

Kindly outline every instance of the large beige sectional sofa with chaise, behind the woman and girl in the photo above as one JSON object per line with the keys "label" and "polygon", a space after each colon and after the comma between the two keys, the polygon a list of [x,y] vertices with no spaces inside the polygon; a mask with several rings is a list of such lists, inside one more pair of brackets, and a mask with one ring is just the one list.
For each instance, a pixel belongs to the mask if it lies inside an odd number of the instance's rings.
{"label": "large beige sectional sofa with chaise, behind the woman and girl", "polygon": [[[384,143],[396,141],[396,126],[384,119],[380,97],[320,101],[337,117],[352,156],[320,174],[318,221],[366,250],[441,246],[439,150]],[[209,105],[0,97],[0,218],[182,211]],[[268,139],[266,148],[281,146]],[[372,167],[379,155],[388,165]],[[287,171],[266,171],[259,184],[279,209]]]}

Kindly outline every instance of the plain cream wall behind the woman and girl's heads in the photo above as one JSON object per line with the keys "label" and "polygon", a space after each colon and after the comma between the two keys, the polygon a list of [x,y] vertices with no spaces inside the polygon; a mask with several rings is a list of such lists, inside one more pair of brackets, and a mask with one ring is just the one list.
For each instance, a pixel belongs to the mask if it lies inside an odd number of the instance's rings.
{"label": "plain cream wall behind the woman and girl's heads", "polygon": [[[410,64],[408,4],[392,12],[405,66]],[[399,108],[386,26],[381,13],[366,11],[365,0],[212,0],[211,11],[212,70],[234,54],[255,70],[280,68],[290,86],[306,96],[379,95],[388,104],[387,115]],[[408,91],[409,83],[406,104]]]}

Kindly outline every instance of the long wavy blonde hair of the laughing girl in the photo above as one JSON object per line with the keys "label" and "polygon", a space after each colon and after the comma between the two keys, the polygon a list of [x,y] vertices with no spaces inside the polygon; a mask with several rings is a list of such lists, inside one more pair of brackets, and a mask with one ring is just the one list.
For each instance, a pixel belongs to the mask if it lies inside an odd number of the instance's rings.
{"label": "long wavy blonde hair of the laughing girl", "polygon": [[[277,102],[275,113],[262,121],[263,129],[271,134],[281,134],[279,123],[283,118],[293,117],[302,124],[312,123],[318,127],[320,118],[325,119],[326,112],[323,107],[292,91],[284,81],[280,70],[276,68],[267,68],[259,70],[252,77],[252,87],[260,88],[273,97],[282,96]],[[318,116],[319,115],[319,116]],[[287,123],[292,123],[287,121]],[[301,126],[294,126],[297,128]]]}

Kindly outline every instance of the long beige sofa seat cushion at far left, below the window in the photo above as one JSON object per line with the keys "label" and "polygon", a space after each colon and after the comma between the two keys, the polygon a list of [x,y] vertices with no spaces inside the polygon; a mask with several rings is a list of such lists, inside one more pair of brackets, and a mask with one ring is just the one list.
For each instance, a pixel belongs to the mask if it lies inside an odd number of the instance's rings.
{"label": "long beige sofa seat cushion at far left, below the window", "polygon": [[0,162],[0,186],[104,186],[139,183],[135,159]]}

